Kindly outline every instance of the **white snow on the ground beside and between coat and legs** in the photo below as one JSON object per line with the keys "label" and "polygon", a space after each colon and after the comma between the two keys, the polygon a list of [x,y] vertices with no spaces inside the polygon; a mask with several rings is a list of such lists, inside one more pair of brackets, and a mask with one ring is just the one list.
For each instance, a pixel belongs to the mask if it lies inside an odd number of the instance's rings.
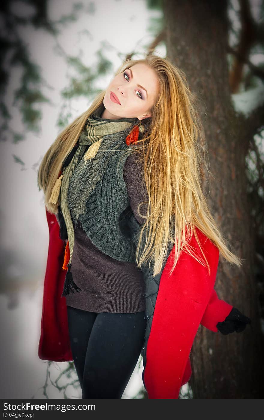
{"label": "white snow on the ground beside and between coat and legs", "polygon": [[[29,282],[28,287],[13,291],[8,295],[0,295],[0,331],[1,360],[0,395],[2,399],[46,399],[43,386],[46,381],[48,362],[40,360],[37,354],[40,322],[42,314],[42,282]],[[139,360],[140,362],[140,360]],[[138,363],[139,365],[139,363]],[[136,366],[123,394],[123,399],[135,398],[143,386],[142,360]],[[55,380],[60,371],[68,366],[68,362],[51,363],[51,378]],[[60,386],[77,379],[74,370],[71,378],[65,375]],[[49,382],[50,383],[50,382]],[[66,395],[70,399],[81,398],[81,388],[67,388]],[[63,399],[63,391],[58,391],[51,384],[47,386],[50,399]]]}

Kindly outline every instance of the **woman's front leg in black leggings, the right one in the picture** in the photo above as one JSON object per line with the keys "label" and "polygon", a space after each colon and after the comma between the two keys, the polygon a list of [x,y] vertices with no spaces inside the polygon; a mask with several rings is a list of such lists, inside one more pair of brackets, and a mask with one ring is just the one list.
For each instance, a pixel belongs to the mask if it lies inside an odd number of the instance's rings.
{"label": "woman's front leg in black leggings, the right one in the picture", "polygon": [[97,314],[87,347],[82,398],[120,399],[144,344],[145,311]]}

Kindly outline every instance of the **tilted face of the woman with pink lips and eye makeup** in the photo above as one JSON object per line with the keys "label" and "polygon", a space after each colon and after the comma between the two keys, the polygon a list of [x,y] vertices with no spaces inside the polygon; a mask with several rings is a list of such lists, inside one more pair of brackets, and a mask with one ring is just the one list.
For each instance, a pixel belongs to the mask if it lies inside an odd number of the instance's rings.
{"label": "tilted face of the woman with pink lips and eye makeup", "polygon": [[[112,120],[148,118],[158,91],[159,81],[152,68],[144,63],[134,64],[110,81],[104,97],[105,110],[101,117]],[[119,103],[114,102],[116,98]]]}

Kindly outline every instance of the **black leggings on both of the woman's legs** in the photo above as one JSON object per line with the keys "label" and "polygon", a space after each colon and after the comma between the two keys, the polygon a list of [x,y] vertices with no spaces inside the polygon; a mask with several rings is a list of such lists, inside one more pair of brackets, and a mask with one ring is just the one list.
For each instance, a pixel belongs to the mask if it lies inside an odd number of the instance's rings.
{"label": "black leggings on both of the woman's legs", "polygon": [[67,306],[82,398],[120,399],[144,344],[145,311],[88,312]]}

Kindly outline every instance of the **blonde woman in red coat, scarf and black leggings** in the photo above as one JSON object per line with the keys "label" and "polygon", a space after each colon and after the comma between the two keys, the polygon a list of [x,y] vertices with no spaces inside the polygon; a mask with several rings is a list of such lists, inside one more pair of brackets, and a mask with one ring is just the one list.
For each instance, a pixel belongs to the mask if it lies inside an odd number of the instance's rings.
{"label": "blonde woman in red coat, scarf and black leggings", "polygon": [[149,398],[178,398],[199,324],[227,334],[251,323],[213,289],[219,252],[241,262],[201,190],[197,115],[169,60],[127,60],[42,160],[39,357],[73,360],[82,398],[120,399],[140,354]]}

